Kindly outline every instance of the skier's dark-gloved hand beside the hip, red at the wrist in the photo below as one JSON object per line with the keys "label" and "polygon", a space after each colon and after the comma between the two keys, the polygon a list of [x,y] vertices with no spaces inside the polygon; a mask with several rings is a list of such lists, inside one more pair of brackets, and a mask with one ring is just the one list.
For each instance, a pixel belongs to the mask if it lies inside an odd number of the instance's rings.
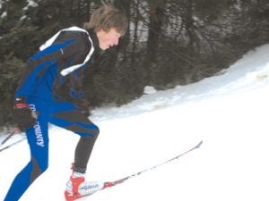
{"label": "skier's dark-gloved hand beside the hip, red at the wrist", "polygon": [[13,119],[20,130],[30,129],[36,124],[36,115],[32,113],[29,105],[21,98],[17,98],[14,104]]}

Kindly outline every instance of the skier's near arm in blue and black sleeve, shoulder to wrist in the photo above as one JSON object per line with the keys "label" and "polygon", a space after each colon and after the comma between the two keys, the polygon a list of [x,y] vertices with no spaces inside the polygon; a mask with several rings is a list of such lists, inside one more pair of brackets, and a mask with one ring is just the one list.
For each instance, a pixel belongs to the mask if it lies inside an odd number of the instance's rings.
{"label": "skier's near arm in blue and black sleeve, shoulder to wrist", "polygon": [[36,81],[54,64],[61,71],[70,65],[82,63],[85,54],[89,52],[87,48],[90,48],[87,40],[84,40],[85,35],[77,31],[64,31],[51,46],[31,56],[15,96],[30,95]]}

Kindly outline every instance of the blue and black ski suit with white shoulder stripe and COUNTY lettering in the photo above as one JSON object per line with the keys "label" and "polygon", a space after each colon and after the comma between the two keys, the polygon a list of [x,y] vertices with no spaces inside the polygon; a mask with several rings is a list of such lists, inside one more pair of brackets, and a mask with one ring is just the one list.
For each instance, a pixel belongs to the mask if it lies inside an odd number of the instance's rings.
{"label": "blue and black ski suit with white shoulder stripe and COUNTY lettering", "polygon": [[17,201],[39,175],[48,168],[48,122],[80,135],[74,153],[74,171],[85,172],[99,128],[80,109],[56,95],[55,88],[65,76],[86,66],[96,53],[99,41],[91,30],[62,29],[30,57],[15,97],[23,97],[39,115],[26,130],[30,162],[13,180],[4,201]]}

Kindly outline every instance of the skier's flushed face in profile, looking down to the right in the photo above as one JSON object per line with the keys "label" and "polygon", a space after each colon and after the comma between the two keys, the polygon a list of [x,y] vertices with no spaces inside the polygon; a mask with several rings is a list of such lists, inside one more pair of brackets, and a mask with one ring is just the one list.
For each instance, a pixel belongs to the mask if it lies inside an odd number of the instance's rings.
{"label": "skier's flushed face in profile, looking down to the right", "polygon": [[103,29],[97,32],[97,38],[99,39],[100,49],[106,50],[111,46],[117,46],[118,40],[121,35],[116,29],[109,29],[107,32]]}

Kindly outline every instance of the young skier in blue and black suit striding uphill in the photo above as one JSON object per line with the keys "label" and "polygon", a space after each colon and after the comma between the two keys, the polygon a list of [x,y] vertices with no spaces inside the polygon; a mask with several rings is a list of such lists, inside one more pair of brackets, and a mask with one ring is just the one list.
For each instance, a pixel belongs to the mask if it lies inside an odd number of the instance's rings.
{"label": "young skier in blue and black suit striding uphill", "polygon": [[[99,52],[117,46],[128,27],[126,16],[112,5],[102,5],[91,14],[83,29],[62,29],[32,55],[15,93],[14,120],[25,130],[30,146],[30,162],[13,180],[4,201],[17,201],[40,174],[48,169],[48,122],[80,136],[74,151],[74,163],[65,189],[65,199],[82,197],[87,190],[85,172],[99,128],[91,122],[88,103],[83,99],[79,74]],[[72,80],[74,105],[57,94],[65,79]],[[86,191],[86,192],[85,192]]]}

